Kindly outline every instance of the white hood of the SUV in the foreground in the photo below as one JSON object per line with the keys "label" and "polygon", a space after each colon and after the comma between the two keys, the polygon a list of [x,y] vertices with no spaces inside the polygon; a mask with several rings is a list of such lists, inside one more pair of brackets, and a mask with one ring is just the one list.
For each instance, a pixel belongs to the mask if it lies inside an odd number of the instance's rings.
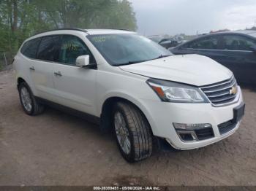
{"label": "white hood of the SUV in the foreground", "polygon": [[210,85],[232,77],[232,72],[202,55],[173,55],[143,63],[119,66],[122,70],[145,77],[182,82],[190,85]]}

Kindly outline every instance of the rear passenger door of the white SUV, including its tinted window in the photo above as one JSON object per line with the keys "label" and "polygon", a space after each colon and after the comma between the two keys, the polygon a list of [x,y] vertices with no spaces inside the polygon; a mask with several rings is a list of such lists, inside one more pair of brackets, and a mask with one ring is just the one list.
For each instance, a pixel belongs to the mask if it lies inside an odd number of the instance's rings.
{"label": "rear passenger door of the white SUV, including its tinted window", "polygon": [[37,95],[50,101],[54,98],[53,63],[58,53],[59,36],[43,36],[37,50],[37,60],[31,63],[31,79]]}

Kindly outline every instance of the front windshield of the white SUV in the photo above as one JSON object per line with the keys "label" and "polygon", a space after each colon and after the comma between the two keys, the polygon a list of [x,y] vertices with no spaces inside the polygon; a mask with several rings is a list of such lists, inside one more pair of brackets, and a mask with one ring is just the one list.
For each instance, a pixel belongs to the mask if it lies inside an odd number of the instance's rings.
{"label": "front windshield of the white SUV", "polygon": [[171,55],[164,47],[138,34],[100,34],[87,38],[112,66],[150,61]]}

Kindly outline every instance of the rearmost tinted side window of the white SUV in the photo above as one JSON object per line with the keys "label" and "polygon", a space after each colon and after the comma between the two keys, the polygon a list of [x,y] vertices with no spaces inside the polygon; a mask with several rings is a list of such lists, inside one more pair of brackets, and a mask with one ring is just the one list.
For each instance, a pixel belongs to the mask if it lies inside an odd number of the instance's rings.
{"label": "rearmost tinted side window of the white SUV", "polygon": [[26,55],[29,58],[36,58],[37,56],[37,47],[39,45],[40,39],[32,39],[28,42],[25,42],[20,52],[23,55]]}

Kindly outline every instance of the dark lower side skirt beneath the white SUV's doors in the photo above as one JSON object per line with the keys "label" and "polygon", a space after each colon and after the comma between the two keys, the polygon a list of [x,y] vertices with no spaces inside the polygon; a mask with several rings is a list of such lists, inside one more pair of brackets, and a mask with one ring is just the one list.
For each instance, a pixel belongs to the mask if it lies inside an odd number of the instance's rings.
{"label": "dark lower side skirt beneath the white SUV's doors", "polygon": [[35,97],[35,98],[41,104],[48,105],[50,107],[53,107],[55,109],[60,110],[61,112],[72,114],[72,115],[74,115],[76,117],[83,118],[84,120],[87,120],[89,122],[93,122],[94,124],[97,124],[97,125],[100,124],[100,117],[97,117],[97,116],[94,116],[94,115],[91,115],[91,114],[87,114],[85,112],[80,112],[80,111],[78,111],[76,109],[72,109],[72,108],[69,108],[67,106],[63,106],[61,104],[56,104],[53,101],[48,101],[48,100],[43,99],[43,98],[39,98],[39,97]]}

